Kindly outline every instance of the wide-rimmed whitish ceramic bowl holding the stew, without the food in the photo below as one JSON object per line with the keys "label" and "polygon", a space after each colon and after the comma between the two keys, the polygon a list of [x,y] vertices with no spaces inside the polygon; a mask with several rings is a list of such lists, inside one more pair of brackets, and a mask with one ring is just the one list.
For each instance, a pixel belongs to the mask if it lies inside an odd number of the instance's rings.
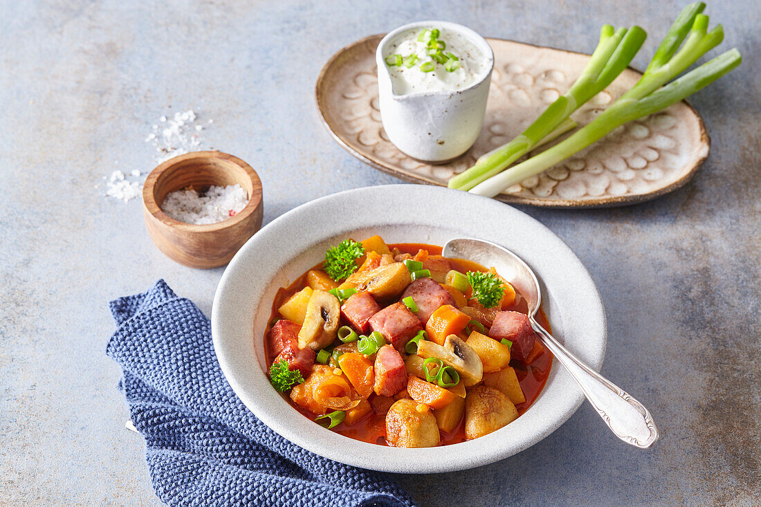
{"label": "wide-rimmed whitish ceramic bowl holding the stew, without the food", "polygon": [[605,312],[594,282],[568,246],[539,222],[501,202],[458,190],[387,185],[349,190],[299,206],[254,234],[224,270],[212,308],[212,336],[224,375],[267,426],[302,448],[356,467],[425,474],[463,470],[508,458],[539,442],[583,400],[575,381],[552,365],[540,397],[505,428],[470,442],[436,448],[391,448],[359,442],[301,416],[269,384],[263,334],[272,299],[345,238],[380,234],[389,243],[443,245],[482,238],[522,257],[543,284],[552,330],[571,352],[599,369]]}

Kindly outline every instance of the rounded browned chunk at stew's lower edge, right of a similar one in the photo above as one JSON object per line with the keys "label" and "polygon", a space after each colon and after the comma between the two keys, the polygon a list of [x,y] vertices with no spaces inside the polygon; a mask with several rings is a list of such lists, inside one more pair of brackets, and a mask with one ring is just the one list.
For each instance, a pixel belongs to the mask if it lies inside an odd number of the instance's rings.
{"label": "rounded browned chunk at stew's lower edge, right of a similar one", "polygon": [[465,437],[472,440],[488,435],[517,416],[515,405],[505,394],[485,385],[473,387],[465,398]]}

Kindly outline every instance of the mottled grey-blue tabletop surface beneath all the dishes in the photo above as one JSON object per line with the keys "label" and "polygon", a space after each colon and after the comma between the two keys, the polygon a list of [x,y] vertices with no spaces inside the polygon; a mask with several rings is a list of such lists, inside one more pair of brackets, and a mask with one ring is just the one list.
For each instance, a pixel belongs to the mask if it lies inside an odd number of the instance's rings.
{"label": "mottled grey-blue tabletop surface beneath all the dishes", "polygon": [[[123,429],[103,354],[107,301],[163,277],[207,313],[221,269],[151,244],[139,200],[101,177],[148,171],[162,113],[193,107],[212,146],[264,185],[265,222],[338,190],[395,180],[318,120],[314,81],[337,49],[422,18],[590,51],[603,22],[642,24],[644,68],[680,2],[2,2],[0,491],[3,505],[158,505],[140,438]],[[603,373],[661,429],[629,448],[583,406],[514,458],[400,477],[425,505],[761,503],[759,134],[753,0],[712,2],[746,62],[693,97],[712,154],[675,193],[623,209],[524,209],[578,253],[608,314]],[[95,188],[100,183],[99,188]]]}

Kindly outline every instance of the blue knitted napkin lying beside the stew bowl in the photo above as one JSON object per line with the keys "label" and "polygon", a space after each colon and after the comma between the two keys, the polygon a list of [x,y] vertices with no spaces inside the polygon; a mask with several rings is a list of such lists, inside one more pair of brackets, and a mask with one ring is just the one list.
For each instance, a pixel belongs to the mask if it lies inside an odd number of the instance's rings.
{"label": "blue knitted napkin lying beside the stew bowl", "polygon": [[222,374],[209,319],[164,280],[110,303],[107,354],[169,505],[414,505],[385,474],[298,447],[256,419]]}

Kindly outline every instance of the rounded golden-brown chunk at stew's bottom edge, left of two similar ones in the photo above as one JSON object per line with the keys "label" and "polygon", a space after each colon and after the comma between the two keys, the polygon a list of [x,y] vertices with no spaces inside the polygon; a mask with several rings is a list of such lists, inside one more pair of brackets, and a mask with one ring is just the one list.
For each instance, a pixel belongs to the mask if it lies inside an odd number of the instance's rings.
{"label": "rounded golden-brown chunk at stew's bottom edge, left of two similar ones", "polygon": [[386,414],[386,440],[394,447],[434,447],[440,436],[436,418],[409,398],[397,400]]}

